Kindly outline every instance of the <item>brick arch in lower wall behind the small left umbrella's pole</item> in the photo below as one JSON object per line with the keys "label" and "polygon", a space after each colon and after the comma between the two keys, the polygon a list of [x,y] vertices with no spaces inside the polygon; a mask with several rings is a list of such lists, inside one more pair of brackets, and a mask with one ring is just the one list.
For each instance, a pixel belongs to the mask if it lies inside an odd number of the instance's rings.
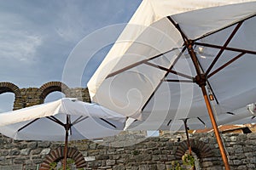
{"label": "brick arch in lower wall behind the small left umbrella's pole", "polygon": [[[43,163],[39,170],[49,169],[50,163],[61,161],[64,158],[64,147],[59,147],[55,150],[51,150],[49,155],[44,157]],[[79,152],[79,150],[75,148],[68,148],[67,158],[73,159],[75,161],[76,168],[82,168],[86,166],[86,162],[84,161],[84,156]]]}

